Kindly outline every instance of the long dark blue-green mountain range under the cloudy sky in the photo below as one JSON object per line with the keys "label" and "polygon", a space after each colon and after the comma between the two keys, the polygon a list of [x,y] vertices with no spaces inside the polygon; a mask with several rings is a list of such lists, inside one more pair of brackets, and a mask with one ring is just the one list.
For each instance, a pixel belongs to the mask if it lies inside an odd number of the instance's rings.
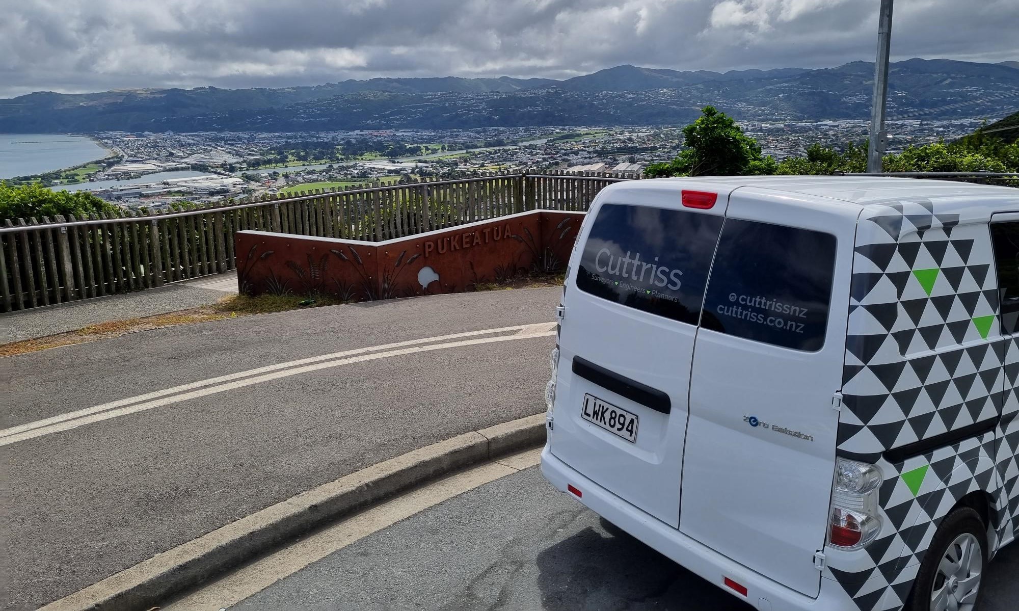
{"label": "long dark blue-green mountain range under the cloudy sky", "polygon": [[[874,66],[679,71],[622,65],[550,78],[371,78],[314,87],[37,92],[0,99],[0,132],[325,131],[683,124],[711,104],[741,120],[866,119]],[[1019,62],[894,62],[888,115],[1014,109]],[[979,101],[976,104],[959,104]],[[946,108],[950,107],[950,108]]]}

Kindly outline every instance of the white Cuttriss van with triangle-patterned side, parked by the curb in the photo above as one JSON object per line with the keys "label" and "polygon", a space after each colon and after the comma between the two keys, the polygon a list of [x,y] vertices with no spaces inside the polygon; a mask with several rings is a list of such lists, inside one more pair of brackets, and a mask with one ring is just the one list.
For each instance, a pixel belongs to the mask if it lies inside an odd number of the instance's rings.
{"label": "white Cuttriss van with triangle-patterned side, parked by the curb", "polygon": [[557,315],[545,478],[756,609],[970,609],[1017,536],[1017,189],[616,183]]}

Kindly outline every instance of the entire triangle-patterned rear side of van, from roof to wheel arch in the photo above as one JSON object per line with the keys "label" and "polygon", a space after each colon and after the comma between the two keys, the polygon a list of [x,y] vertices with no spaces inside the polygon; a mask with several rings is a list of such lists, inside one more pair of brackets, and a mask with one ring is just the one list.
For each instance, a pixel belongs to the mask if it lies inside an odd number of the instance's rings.
{"label": "entire triangle-patterned rear side of van, from roof to wheel arch", "polygon": [[857,228],[837,453],[880,468],[882,525],[864,550],[827,546],[823,576],[861,610],[904,604],[965,495],[989,495],[993,547],[1012,519],[996,468],[1005,396],[1015,403],[1003,367],[1012,340],[997,316],[989,213],[952,204],[965,212],[942,214],[930,200],[870,205]]}

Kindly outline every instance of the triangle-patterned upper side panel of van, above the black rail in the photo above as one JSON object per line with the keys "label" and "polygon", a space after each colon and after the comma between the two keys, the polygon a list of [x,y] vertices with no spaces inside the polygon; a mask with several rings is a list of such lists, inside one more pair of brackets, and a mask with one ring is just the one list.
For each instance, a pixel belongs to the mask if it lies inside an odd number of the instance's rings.
{"label": "triangle-patterned upper side panel of van, above the black rail", "polygon": [[856,240],[839,454],[874,462],[997,416],[1005,339],[986,223],[929,201],[870,205]]}

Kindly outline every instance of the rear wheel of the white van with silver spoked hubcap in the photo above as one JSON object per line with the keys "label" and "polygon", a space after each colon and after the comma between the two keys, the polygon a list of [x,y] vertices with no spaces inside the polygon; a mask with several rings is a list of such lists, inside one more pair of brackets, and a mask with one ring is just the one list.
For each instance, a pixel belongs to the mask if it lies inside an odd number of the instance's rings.
{"label": "rear wheel of the white van with silver spoked hubcap", "polygon": [[983,591],[987,535],[980,514],[960,507],[942,521],[920,563],[908,611],[974,611]]}

